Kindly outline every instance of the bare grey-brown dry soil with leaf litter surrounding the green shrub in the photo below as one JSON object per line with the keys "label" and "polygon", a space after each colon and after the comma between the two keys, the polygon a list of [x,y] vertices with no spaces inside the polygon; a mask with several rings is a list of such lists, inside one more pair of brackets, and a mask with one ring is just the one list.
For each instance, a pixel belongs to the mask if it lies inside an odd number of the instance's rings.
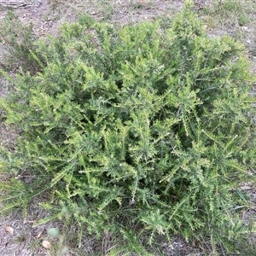
{"label": "bare grey-brown dry soil with leaf litter surrounding the green shrub", "polygon": [[[7,14],[9,7],[1,5],[0,1],[0,20]],[[13,1],[15,2],[15,1]],[[22,3],[22,1],[16,1]],[[27,3],[28,1],[24,1]],[[195,7],[201,9],[209,1],[195,1]],[[211,2],[211,1],[210,1]],[[11,6],[11,5],[10,5]],[[160,17],[161,20],[172,20],[173,15],[183,7],[183,1],[180,0],[38,0],[33,4],[24,6],[15,6],[15,14],[19,16],[24,24],[32,22],[34,33],[38,37],[45,37],[46,34],[55,35],[58,28],[63,22],[72,22],[77,20],[79,15],[86,13],[92,15],[96,20],[107,20],[116,25],[123,26],[128,23],[137,23],[141,20],[154,20]],[[166,21],[167,22],[167,21]],[[1,28],[0,28],[1,29]],[[248,28],[247,28],[248,29]],[[213,31],[212,34],[223,33],[223,31]],[[2,47],[2,49],[1,49]],[[0,45],[0,56],[3,53],[3,45]],[[3,57],[3,55],[2,55]],[[7,82],[0,80],[0,96],[5,96],[8,93]],[[15,131],[9,131],[4,125],[0,126],[0,144],[15,143]],[[3,178],[3,177],[0,177]],[[247,184],[245,189],[252,189],[250,184]],[[256,194],[253,194],[254,196]],[[254,197],[254,199],[256,196]],[[42,199],[44,201],[44,199]],[[39,206],[39,202],[34,201],[28,208],[27,216],[24,217],[22,212],[14,212],[9,217],[0,216],[0,255],[1,256],[49,256],[49,255],[91,255],[95,249],[95,241],[91,237],[84,236],[81,248],[69,247],[68,252],[66,247],[61,247],[57,253],[47,246],[47,241],[53,245],[56,240],[53,240],[47,234],[49,228],[59,227],[58,223],[41,224],[34,227],[34,224],[41,218],[47,218],[47,212],[43,211]],[[0,206],[1,207],[1,206]],[[247,213],[247,219],[255,214],[255,210]],[[75,233],[76,230],[70,230],[70,233]],[[46,241],[46,242],[45,242]],[[59,238],[58,242],[61,241]],[[62,241],[62,245],[63,245]],[[100,255],[105,255],[111,247],[111,243],[102,241],[102,247],[99,249]],[[177,237],[172,244],[162,241],[160,246],[165,255],[187,255],[199,256],[204,253],[196,253],[189,245]],[[199,246],[200,249],[200,246]],[[55,250],[56,252],[56,250]],[[191,253],[192,252],[192,253]],[[160,255],[160,254],[155,254]]]}

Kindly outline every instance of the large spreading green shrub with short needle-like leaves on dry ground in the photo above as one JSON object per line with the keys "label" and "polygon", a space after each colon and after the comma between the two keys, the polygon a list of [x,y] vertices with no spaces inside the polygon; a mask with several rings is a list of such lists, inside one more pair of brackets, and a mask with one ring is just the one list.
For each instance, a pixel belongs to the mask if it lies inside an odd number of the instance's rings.
{"label": "large spreading green shrub with short needle-like leaves on dry ground", "polygon": [[239,183],[255,166],[243,46],[208,38],[189,4],[168,29],[84,17],[37,45],[42,71],[17,75],[1,102],[22,131],[5,170],[33,177],[21,202],[49,195],[56,218],[123,237],[119,253],[174,234],[233,250],[248,231]]}

